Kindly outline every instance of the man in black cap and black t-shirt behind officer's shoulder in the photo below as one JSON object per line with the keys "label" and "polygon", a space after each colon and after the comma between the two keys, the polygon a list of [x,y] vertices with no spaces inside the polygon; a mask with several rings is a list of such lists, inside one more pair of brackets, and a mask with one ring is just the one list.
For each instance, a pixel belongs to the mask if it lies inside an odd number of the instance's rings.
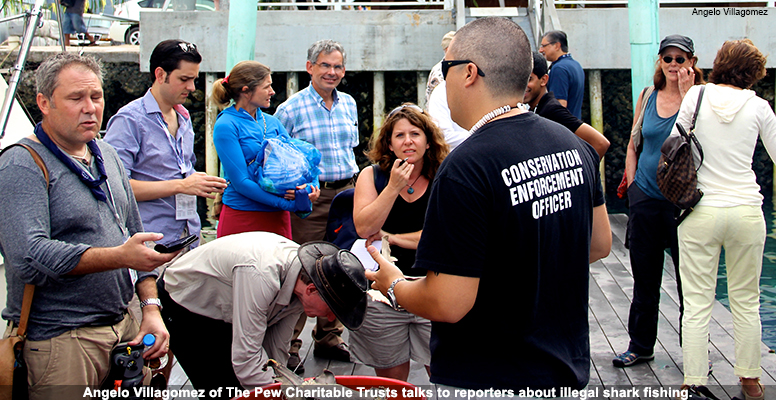
{"label": "man in black cap and black t-shirt behind officer's shoulder", "polygon": [[534,68],[528,79],[523,103],[531,106],[531,111],[574,132],[584,141],[590,143],[598,152],[598,156],[603,158],[604,153],[609,148],[609,140],[595,128],[575,117],[568,108],[560,104],[552,92],[547,91],[547,80],[550,78],[547,75],[547,60],[538,51],[533,52],[533,59]]}

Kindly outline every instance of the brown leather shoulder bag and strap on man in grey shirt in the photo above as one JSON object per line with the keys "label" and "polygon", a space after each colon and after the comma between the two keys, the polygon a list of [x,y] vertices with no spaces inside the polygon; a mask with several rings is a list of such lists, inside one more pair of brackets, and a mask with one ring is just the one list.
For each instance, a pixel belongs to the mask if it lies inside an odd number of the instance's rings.
{"label": "brown leather shoulder bag and strap on man in grey shirt", "polygon": [[[46,164],[32,147],[25,144],[12,144],[2,152],[0,156],[14,146],[21,146],[30,152],[35,164],[43,172],[43,178],[48,187],[49,175]],[[35,285],[24,285],[24,297],[22,298],[22,311],[19,316],[19,327],[16,329],[16,335],[0,340],[0,400],[18,400],[26,399],[27,393],[27,366],[22,358],[22,349],[24,341],[27,338],[27,321],[32,308],[32,296],[35,293]]]}

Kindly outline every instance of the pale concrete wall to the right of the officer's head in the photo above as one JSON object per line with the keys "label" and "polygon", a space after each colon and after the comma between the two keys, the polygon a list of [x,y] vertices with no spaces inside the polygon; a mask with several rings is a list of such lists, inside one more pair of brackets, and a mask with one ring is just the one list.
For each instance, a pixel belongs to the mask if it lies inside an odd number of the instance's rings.
{"label": "pale concrete wall to the right of the officer's head", "polygon": [[[693,11],[696,14],[693,14]],[[704,17],[699,11],[719,15]],[[747,7],[735,11],[762,11],[767,15],[734,15],[731,8],[661,8],[660,38],[671,34],[689,36],[695,42],[698,65],[712,67],[722,43],[730,39],[752,39],[765,55],[776,48],[776,8]],[[728,15],[725,14],[728,11]],[[563,30],[569,36],[569,50],[585,69],[629,69],[630,40],[628,10],[558,9]],[[657,59],[657,58],[656,58]],[[768,59],[768,68],[776,67],[776,57]]]}

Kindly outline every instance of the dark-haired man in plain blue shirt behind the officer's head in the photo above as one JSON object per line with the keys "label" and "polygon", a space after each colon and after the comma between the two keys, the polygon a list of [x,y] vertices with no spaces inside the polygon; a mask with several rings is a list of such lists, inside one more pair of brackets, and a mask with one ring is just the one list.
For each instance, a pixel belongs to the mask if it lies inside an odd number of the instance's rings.
{"label": "dark-haired man in plain blue shirt behind the officer's head", "polygon": [[558,102],[582,119],[582,97],[585,92],[585,71],[569,54],[566,33],[550,31],[542,37],[539,52],[544,54],[550,65],[550,80],[547,91],[553,92]]}

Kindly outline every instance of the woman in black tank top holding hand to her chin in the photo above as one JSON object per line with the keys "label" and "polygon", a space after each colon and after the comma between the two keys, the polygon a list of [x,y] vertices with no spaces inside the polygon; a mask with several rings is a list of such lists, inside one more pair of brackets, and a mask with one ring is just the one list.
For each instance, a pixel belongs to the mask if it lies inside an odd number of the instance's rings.
{"label": "woman in black tank top holding hand to her chin", "polygon": [[[405,103],[391,111],[372,136],[367,156],[375,164],[361,171],[356,182],[356,231],[367,239],[367,246],[374,240],[390,246],[396,265],[408,276],[425,275],[412,265],[431,181],[448,148],[431,118],[420,107]],[[377,376],[406,381],[410,358],[428,369],[430,338],[431,321],[392,307],[391,301],[377,292],[367,303],[364,324],[350,333],[350,349],[361,362],[373,367]]]}

